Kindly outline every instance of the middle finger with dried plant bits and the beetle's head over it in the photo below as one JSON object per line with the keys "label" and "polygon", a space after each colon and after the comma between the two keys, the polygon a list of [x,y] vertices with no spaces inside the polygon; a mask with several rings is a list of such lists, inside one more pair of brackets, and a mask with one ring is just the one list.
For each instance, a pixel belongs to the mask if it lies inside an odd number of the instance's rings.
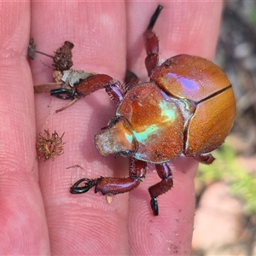
{"label": "middle finger with dried plant bits and the beetle's head over it", "polygon": [[[50,54],[69,40],[75,45],[74,68],[123,78],[124,3],[35,2],[32,11],[32,37],[39,50]],[[47,61],[44,56],[40,58]],[[35,83],[51,81],[50,70],[44,74],[47,67],[40,61],[35,60],[32,65]],[[127,253],[128,196],[119,195],[108,204],[106,197],[95,195],[93,189],[84,195],[69,193],[71,185],[82,177],[125,175],[125,162],[113,160],[113,156],[102,158],[93,143],[96,131],[113,117],[114,105],[104,91],[96,91],[71,108],[55,113],[66,103],[49,95],[38,95],[36,101],[38,131],[65,131],[63,141],[67,142],[64,154],[54,161],[39,163],[52,253]],[[66,169],[77,164],[84,170]]]}

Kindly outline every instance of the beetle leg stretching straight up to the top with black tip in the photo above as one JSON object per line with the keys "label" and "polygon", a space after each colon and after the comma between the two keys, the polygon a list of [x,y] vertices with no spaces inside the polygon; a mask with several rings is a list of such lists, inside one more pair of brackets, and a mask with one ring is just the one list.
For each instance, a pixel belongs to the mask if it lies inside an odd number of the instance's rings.
{"label": "beetle leg stretching straight up to the top with black tip", "polygon": [[155,10],[149,22],[147,30],[143,33],[144,46],[146,49],[147,57],[145,59],[145,66],[148,71],[148,76],[158,64],[159,59],[159,41],[155,33],[152,31],[154,23],[160,15],[160,11],[163,9],[161,5]]}

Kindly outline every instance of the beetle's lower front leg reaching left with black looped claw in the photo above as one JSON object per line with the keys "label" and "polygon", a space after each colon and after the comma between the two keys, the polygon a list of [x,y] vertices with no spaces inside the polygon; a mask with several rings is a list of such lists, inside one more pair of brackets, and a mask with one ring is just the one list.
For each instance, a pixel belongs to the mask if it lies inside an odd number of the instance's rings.
{"label": "beetle's lower front leg reaching left with black looped claw", "polygon": [[[130,158],[129,177],[83,178],[73,184],[70,192],[73,194],[85,193],[94,186],[96,186],[95,193],[102,192],[102,195],[129,192],[132,189],[136,189],[143,181],[146,175],[146,166],[146,162]],[[83,182],[86,182],[84,187],[79,187],[79,184]]]}

